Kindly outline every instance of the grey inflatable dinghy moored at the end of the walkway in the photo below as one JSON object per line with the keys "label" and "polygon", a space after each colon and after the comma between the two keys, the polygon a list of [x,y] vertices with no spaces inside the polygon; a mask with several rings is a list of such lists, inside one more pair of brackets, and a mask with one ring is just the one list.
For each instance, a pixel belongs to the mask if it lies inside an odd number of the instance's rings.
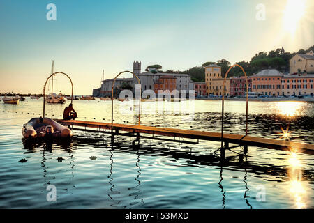
{"label": "grey inflatable dinghy moored at the end of the walkway", "polygon": [[44,137],[65,139],[73,136],[69,128],[50,118],[31,118],[23,125],[22,134],[25,139]]}

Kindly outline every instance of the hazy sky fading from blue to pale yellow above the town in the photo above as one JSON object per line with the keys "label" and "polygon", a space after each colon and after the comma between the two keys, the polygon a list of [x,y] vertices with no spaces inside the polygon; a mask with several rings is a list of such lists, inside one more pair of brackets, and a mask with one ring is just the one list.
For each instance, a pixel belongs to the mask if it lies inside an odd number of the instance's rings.
{"label": "hazy sky fading from blue to pale yellow above the town", "polygon": [[[112,78],[132,70],[134,60],[142,71],[155,63],[186,70],[223,58],[249,61],[282,46],[307,49],[314,8],[301,1],[1,0],[0,92],[41,93],[52,60],[54,71],[72,77],[75,94],[91,94],[103,69]],[[57,6],[56,21],[46,18],[48,3]],[[256,19],[259,3],[265,20]],[[65,81],[57,77],[56,86],[67,93]]]}

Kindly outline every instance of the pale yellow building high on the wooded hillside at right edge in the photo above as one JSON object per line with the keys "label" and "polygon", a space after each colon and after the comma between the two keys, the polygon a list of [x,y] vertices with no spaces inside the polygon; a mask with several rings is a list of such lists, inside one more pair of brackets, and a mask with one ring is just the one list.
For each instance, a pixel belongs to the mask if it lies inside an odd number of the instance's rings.
{"label": "pale yellow building high on the wooded hillside at right edge", "polygon": [[314,73],[314,53],[311,50],[306,54],[296,54],[289,61],[290,74],[301,72]]}

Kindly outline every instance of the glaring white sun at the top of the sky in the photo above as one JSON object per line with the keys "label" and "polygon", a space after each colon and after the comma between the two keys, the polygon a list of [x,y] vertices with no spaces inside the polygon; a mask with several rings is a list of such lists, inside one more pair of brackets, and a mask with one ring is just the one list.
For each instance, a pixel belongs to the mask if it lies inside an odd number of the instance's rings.
{"label": "glaring white sun at the top of the sky", "polygon": [[287,0],[283,13],[283,28],[294,34],[301,17],[304,16],[306,0]]}

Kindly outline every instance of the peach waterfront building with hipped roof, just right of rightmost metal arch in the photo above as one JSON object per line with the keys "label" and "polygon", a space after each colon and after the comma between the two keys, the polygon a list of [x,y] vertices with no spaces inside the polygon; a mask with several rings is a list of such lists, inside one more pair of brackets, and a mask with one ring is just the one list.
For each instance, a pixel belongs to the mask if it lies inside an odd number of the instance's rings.
{"label": "peach waterfront building with hipped roof, just right of rightmost metal arch", "polygon": [[283,73],[274,69],[267,69],[258,72],[251,77],[252,91],[261,95],[281,95],[281,78]]}

